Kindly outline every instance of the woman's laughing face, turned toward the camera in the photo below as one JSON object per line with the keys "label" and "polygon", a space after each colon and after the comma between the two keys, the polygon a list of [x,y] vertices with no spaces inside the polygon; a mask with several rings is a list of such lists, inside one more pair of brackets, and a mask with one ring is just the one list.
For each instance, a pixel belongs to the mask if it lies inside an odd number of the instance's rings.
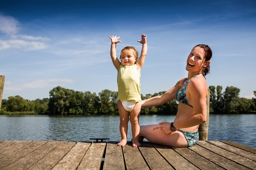
{"label": "woman's laughing face, turned toward the camera", "polygon": [[193,48],[187,59],[186,71],[201,73],[203,67],[207,65],[204,49],[200,47]]}

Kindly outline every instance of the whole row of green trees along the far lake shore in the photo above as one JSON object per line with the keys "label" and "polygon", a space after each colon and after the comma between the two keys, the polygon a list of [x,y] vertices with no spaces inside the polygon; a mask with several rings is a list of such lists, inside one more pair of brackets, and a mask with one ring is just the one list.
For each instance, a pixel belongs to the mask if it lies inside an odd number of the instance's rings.
{"label": "whole row of green trees along the far lake shore", "polygon": [[[240,89],[230,86],[222,93],[222,86],[209,86],[210,111],[212,113],[253,113],[256,111],[256,98],[239,98]],[[142,99],[160,96],[165,91],[153,95],[142,94]],[[256,96],[256,91],[253,92]],[[177,101],[174,99],[163,105],[142,108],[141,114],[176,114]],[[108,89],[97,95],[90,91],[74,91],[61,86],[49,92],[49,99],[26,100],[21,96],[10,96],[2,100],[1,114],[49,114],[49,115],[91,115],[118,114],[117,92]]]}

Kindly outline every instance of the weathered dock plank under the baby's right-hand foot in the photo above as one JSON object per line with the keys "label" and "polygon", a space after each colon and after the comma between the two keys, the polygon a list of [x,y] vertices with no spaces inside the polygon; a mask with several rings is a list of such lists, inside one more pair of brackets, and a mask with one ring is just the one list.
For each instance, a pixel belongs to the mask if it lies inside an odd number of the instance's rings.
{"label": "weathered dock plank under the baby's right-hand foot", "polygon": [[122,147],[122,150],[127,170],[149,170],[140,150],[137,147],[132,147],[132,142],[128,142],[124,147]]}

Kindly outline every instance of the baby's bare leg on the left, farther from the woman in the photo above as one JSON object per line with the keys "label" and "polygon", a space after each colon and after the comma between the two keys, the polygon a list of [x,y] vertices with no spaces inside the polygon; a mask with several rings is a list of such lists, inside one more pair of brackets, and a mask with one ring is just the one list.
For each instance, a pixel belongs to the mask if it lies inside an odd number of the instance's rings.
{"label": "baby's bare leg on the left, farther from the woman", "polygon": [[119,130],[121,134],[121,141],[117,145],[125,146],[127,143],[129,112],[124,109],[122,102],[120,101],[118,101],[118,112],[120,117]]}

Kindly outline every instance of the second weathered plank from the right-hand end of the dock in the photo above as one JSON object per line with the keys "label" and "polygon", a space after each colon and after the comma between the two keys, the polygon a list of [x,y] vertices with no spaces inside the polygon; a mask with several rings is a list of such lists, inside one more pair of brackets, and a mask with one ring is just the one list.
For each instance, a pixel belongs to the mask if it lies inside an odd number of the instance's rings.
{"label": "second weathered plank from the right-hand end of the dock", "polygon": [[224,144],[224,143],[219,142],[219,141],[209,141],[209,142],[218,146],[218,147],[221,147],[225,150],[228,150],[228,151],[236,153],[240,156],[244,156],[245,158],[252,159],[252,160],[256,161],[256,154],[253,154],[253,153],[250,153],[248,151],[239,149],[237,147],[230,146],[229,144]]}

